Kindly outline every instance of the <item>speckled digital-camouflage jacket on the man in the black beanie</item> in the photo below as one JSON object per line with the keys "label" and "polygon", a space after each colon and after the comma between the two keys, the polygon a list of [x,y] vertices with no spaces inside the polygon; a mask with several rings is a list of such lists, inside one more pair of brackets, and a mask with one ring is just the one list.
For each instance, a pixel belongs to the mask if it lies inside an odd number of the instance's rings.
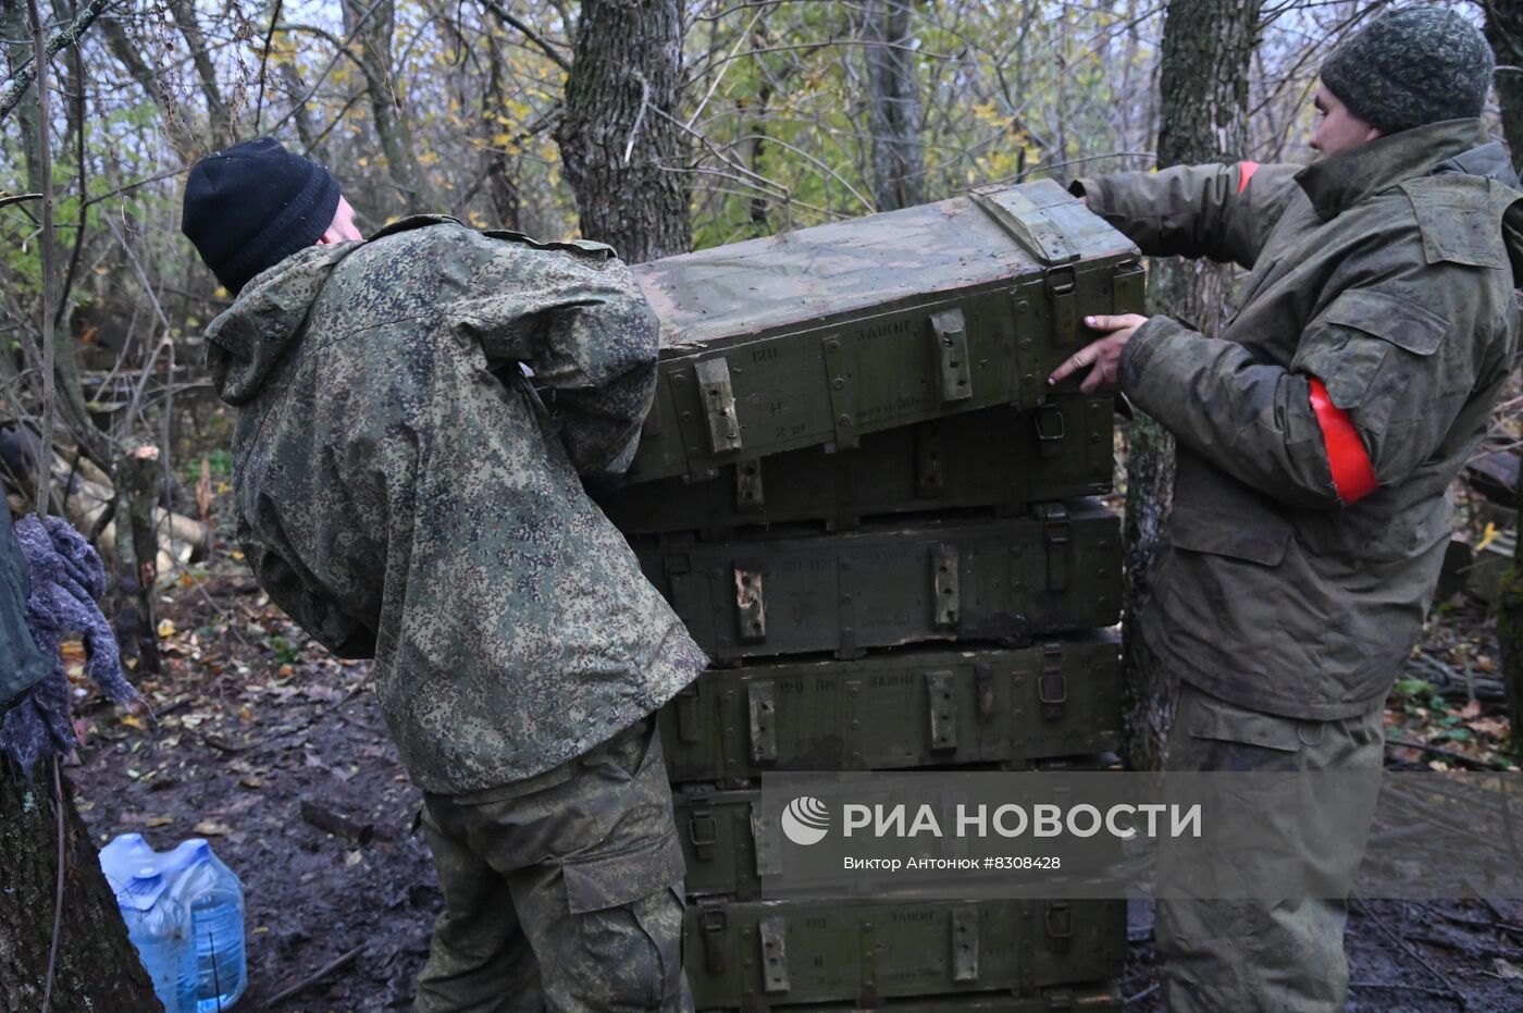
{"label": "speckled digital-camouflage jacket on the man in the black beanie", "polygon": [[288,257],[206,337],[248,562],[312,637],[375,657],[422,789],[545,771],[702,670],[579,478],[627,466],[656,382],[608,247],[411,218]]}

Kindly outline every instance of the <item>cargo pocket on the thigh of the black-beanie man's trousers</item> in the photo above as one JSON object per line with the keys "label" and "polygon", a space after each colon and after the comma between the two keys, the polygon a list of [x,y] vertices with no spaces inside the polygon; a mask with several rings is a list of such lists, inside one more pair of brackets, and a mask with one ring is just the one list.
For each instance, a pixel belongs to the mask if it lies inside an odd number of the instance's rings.
{"label": "cargo pocket on the thigh of the black-beanie man's trousers", "polygon": [[609,1008],[664,1010],[681,992],[684,871],[676,835],[562,865],[582,952],[600,969],[586,987]]}

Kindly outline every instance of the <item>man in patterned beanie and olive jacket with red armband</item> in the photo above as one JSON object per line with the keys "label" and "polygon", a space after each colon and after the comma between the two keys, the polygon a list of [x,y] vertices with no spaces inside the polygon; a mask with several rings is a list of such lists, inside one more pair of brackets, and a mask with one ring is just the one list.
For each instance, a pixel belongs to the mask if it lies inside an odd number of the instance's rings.
{"label": "man in patterned beanie and olive jacket with red armband", "polygon": [[[1092,318],[1113,334],[1054,373],[1092,367],[1086,390],[1118,385],[1177,439],[1139,622],[1183,682],[1170,769],[1378,783],[1384,698],[1450,539],[1447,491],[1518,350],[1523,193],[1477,119],[1491,66],[1459,15],[1389,12],[1323,64],[1311,166],[1075,184],[1144,253],[1250,271],[1218,337]],[[1264,838],[1348,882],[1365,824],[1325,815],[1279,827],[1266,812]],[[1161,900],[1168,1008],[1342,1010],[1343,919],[1340,900]]]}

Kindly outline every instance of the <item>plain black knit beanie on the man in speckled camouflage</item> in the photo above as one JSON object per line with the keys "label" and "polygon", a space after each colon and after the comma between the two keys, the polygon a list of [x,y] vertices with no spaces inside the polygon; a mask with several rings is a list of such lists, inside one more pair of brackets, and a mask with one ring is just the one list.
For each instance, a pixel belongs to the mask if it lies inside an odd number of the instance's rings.
{"label": "plain black knit beanie on the man in speckled camouflage", "polygon": [[268,137],[190,169],[180,230],[227,291],[315,244],[334,224],[338,180]]}

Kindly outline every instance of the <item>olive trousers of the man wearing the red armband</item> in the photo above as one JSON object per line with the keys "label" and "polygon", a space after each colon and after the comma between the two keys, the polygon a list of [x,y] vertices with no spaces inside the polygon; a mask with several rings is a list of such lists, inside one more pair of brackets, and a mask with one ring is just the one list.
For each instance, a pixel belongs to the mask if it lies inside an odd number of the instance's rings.
{"label": "olive trousers of the man wearing the red armband", "polygon": [[[1296,721],[1180,684],[1167,768],[1368,772],[1372,806],[1384,759],[1383,713],[1381,704],[1357,717]],[[1357,781],[1365,785],[1363,777]],[[1285,813],[1266,807],[1255,813],[1255,830],[1260,826],[1266,855],[1290,856],[1320,882],[1348,884],[1369,821],[1346,809]],[[1253,856],[1231,861],[1252,862]],[[1177,870],[1165,845],[1161,890],[1171,874]],[[1244,879],[1252,876],[1247,871]],[[1164,1005],[1170,1013],[1336,1013],[1348,993],[1346,920],[1345,900],[1161,899],[1154,931]]]}

